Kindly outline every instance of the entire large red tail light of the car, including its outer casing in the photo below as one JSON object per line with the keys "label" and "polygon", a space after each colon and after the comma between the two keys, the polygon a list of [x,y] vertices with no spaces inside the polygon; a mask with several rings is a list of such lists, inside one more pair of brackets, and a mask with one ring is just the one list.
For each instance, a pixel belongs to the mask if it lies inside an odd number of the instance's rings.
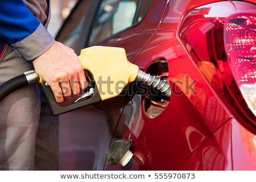
{"label": "entire large red tail light of the car, including its outer casing", "polygon": [[[250,11],[240,13],[230,2],[193,9],[184,16],[178,35],[238,121],[256,132],[256,6],[250,5]],[[221,13],[218,9],[224,6]]]}

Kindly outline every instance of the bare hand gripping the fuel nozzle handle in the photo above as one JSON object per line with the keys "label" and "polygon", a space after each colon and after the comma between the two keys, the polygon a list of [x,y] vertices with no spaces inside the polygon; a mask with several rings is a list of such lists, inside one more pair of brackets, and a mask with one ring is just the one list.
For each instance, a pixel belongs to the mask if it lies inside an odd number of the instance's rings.
{"label": "bare hand gripping the fuel nozzle handle", "polygon": [[51,86],[58,103],[87,87],[84,70],[73,49],[54,42],[42,55],[33,60],[36,73]]}

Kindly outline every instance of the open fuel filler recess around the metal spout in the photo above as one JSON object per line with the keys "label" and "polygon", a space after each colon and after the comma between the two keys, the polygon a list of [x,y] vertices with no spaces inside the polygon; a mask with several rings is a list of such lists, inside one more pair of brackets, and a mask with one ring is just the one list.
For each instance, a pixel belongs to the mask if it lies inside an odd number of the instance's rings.
{"label": "open fuel filler recess around the metal spout", "polygon": [[[168,63],[165,59],[156,59],[147,68],[147,73],[160,78],[162,81],[168,80]],[[163,92],[150,88],[150,92],[144,97],[144,111],[148,118],[155,118],[160,115],[169,104],[171,96],[166,96]]]}

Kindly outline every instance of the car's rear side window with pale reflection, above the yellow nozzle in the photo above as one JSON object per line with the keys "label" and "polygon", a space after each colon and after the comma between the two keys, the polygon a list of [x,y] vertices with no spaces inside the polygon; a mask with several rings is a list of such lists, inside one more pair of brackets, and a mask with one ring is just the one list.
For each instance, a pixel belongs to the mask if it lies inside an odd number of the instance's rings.
{"label": "car's rear side window with pale reflection, above the yellow nozzle", "polygon": [[139,22],[148,10],[151,0],[104,0],[94,19],[89,39],[93,46]]}

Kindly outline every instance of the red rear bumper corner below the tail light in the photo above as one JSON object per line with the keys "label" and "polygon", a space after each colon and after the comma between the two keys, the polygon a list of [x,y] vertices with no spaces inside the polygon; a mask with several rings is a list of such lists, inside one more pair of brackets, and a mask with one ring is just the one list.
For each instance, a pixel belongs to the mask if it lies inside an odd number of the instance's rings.
{"label": "red rear bumper corner below the tail light", "polygon": [[242,127],[236,119],[230,119],[179,169],[254,171],[255,140],[254,134]]}

